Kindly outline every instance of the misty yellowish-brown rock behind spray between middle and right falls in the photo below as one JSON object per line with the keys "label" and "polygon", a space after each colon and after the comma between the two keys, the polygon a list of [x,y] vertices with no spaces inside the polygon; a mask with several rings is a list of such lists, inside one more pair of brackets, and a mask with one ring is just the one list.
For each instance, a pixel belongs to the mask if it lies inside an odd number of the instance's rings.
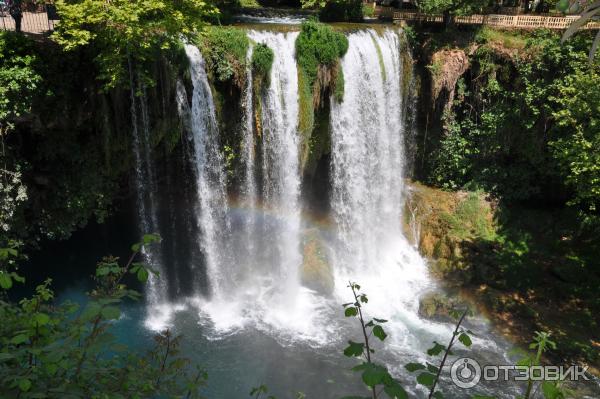
{"label": "misty yellowish-brown rock behind spray between middle and right falls", "polygon": [[329,251],[323,244],[317,230],[312,229],[305,233],[303,246],[303,260],[300,270],[302,285],[322,294],[330,295],[335,286],[333,268],[329,262]]}

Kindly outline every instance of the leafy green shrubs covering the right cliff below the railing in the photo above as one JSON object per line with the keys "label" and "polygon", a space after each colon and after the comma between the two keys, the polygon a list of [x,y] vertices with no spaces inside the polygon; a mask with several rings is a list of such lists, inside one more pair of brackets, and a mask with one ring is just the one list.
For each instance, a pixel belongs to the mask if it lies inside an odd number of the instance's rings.
{"label": "leafy green shrubs covering the right cliff below the railing", "polygon": [[590,212],[597,197],[599,107],[592,84],[598,63],[589,66],[585,54],[590,37],[561,45],[548,31],[526,40],[510,35],[519,53],[507,63],[487,45],[506,36],[480,36],[483,45],[444,115],[430,181],[482,188],[506,201],[568,201]]}

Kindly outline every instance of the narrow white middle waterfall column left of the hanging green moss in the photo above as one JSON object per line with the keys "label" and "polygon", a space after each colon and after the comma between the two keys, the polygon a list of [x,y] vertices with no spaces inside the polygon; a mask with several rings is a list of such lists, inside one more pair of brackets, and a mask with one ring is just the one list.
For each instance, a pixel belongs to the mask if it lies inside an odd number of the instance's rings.
{"label": "narrow white middle waterfall column left of the hanging green moss", "polygon": [[[274,215],[264,224],[266,245],[275,266],[278,289],[285,300],[298,291],[300,257],[300,165],[298,137],[298,72],[295,61],[297,33],[249,33],[274,54],[270,85],[262,93],[262,200]],[[289,304],[289,302],[288,302]]]}

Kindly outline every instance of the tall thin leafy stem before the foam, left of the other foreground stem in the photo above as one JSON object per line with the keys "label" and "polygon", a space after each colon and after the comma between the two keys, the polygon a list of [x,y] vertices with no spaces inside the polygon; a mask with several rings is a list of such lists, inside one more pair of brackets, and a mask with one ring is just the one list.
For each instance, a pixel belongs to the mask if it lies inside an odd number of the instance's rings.
{"label": "tall thin leafy stem before the foam, left of the other foreground stem", "polygon": [[[408,398],[400,382],[389,373],[383,365],[372,361],[371,355],[375,353],[372,348],[370,338],[375,336],[380,341],[385,341],[387,333],[383,329],[383,324],[387,320],[373,318],[365,322],[362,307],[369,300],[365,293],[360,292],[360,285],[350,282],[348,287],[352,290],[354,302],[343,304],[344,315],[346,317],[355,317],[358,319],[362,331],[362,342],[348,341],[348,347],[344,349],[344,355],[348,357],[363,358],[363,362],[352,370],[361,372],[363,382],[371,390],[371,398],[377,399],[385,392],[388,397],[396,399]],[[348,396],[345,399],[365,399],[361,396]],[[368,397],[366,398],[368,399]]]}

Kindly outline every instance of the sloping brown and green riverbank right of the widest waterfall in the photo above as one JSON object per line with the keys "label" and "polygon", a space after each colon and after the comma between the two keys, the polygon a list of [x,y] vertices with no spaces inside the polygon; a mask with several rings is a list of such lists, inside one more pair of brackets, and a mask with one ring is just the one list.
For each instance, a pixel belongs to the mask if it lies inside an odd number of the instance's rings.
{"label": "sloping brown and green riverbank right of the widest waterfall", "polygon": [[[497,331],[526,347],[547,331],[554,364],[586,364],[598,375],[597,274],[578,275],[594,248],[575,233],[564,209],[505,207],[484,193],[437,190],[411,183],[408,235],[449,292],[470,302]],[[444,300],[433,306],[443,311]],[[428,310],[434,315],[437,310]]]}

